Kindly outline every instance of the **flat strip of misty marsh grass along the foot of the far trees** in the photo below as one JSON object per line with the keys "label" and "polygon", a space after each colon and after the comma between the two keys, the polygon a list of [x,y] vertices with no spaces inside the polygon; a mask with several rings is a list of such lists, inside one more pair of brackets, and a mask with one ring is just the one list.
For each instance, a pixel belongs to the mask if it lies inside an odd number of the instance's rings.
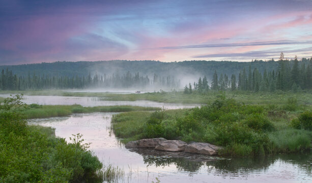
{"label": "flat strip of misty marsh grass along the foot of the far trees", "polygon": [[[72,96],[99,97],[103,101],[138,101],[148,100],[163,103],[208,104],[214,101],[219,92],[210,90],[207,94],[183,94],[183,92],[155,92],[144,94],[113,94],[101,92],[65,92],[63,90],[27,90],[0,91],[0,94],[40,95],[40,96]],[[298,104],[312,106],[312,91],[300,93],[282,92],[254,93],[243,91],[226,91],[227,98],[233,98],[248,105],[285,105],[289,98],[296,98]]]}

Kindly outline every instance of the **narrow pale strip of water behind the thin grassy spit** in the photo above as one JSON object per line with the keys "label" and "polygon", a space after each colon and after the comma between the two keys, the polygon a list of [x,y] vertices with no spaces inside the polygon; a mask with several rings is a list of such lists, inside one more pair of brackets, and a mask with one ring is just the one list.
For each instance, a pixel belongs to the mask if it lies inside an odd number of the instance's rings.
{"label": "narrow pale strip of water behind the thin grassy spit", "polygon": [[[2,94],[0,97],[10,97]],[[24,95],[22,100],[26,104],[39,105],[74,105],[80,104],[84,107],[93,106],[114,106],[114,105],[131,105],[143,107],[164,107],[165,109],[192,108],[199,106],[196,104],[169,104],[151,101],[103,101],[98,97],[64,97],[64,96],[27,96]]]}

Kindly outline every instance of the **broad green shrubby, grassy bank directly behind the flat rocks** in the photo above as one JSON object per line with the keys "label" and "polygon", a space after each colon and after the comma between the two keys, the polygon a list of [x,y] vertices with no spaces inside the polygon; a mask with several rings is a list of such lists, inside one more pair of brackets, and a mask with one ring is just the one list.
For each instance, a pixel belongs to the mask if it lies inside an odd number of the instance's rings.
{"label": "broad green shrubby, grassy bank directly behind the flat rocks", "polygon": [[201,108],[117,114],[112,128],[124,142],[155,137],[208,142],[224,146],[221,155],[238,157],[298,153],[311,148],[312,116],[302,113],[306,108],[295,98],[283,105],[245,105],[219,95]]}

